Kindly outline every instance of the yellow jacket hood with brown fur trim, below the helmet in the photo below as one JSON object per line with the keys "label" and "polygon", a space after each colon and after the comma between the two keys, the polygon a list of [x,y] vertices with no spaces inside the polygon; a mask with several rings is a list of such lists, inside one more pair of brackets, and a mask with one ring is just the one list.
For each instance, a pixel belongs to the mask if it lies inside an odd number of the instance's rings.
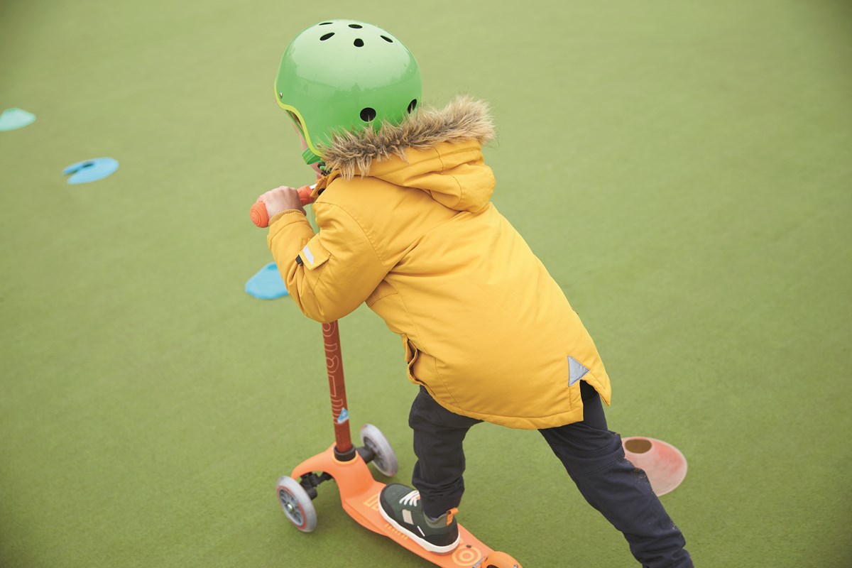
{"label": "yellow jacket hood with brown fur trim, below the helmet", "polygon": [[442,109],[421,108],[399,125],[338,133],[321,152],[326,167],[344,178],[378,178],[421,189],[450,209],[477,212],[494,188],[481,152],[493,136],[487,103],[459,96]]}

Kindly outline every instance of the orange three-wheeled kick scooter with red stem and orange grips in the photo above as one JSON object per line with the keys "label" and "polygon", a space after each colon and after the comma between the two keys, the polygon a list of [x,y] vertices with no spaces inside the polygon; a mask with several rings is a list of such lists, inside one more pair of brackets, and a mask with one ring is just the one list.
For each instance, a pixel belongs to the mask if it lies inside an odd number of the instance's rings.
{"label": "orange three-wheeled kick scooter with red stem and orange grips", "polygon": [[[306,186],[299,190],[305,204],[310,203],[309,189]],[[258,227],[266,226],[268,215],[262,203],[252,207],[251,218]],[[521,568],[518,561],[509,554],[489,548],[461,524],[458,525],[458,548],[453,550],[452,554],[435,554],[397,531],[383,518],[379,513],[378,500],[385,484],[373,479],[367,464],[372,463],[380,473],[393,477],[398,468],[396,455],[388,439],[371,424],[365,424],[360,429],[361,445],[353,445],[337,322],[323,324],[323,338],[335,443],[327,450],[300,463],[289,476],[279,478],[275,492],[291,524],[302,532],[314,531],[317,513],[313,500],[318,496],[317,488],[326,481],[334,480],[340,491],[343,510],[358,524],[377,534],[388,536],[432,564],[443,568]]]}

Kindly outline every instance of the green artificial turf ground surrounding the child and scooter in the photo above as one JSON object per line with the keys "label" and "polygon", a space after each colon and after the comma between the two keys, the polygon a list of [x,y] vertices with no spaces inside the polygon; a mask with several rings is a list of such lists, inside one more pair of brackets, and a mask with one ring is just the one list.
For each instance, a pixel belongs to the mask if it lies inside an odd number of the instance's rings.
{"label": "green artificial turf ground surrounding the child and scooter", "polygon": [[[248,209],[311,179],[272,82],[330,17],[405,41],[426,102],[491,103],[494,201],[596,338],[610,427],[687,456],[662,501],[696,565],[852,564],[849,3],[10,0],[0,111],[37,120],[0,132],[0,566],[428,565],[333,484],[309,535],[273,491],[331,413],[319,324],[243,291]],[[364,307],[341,330],[352,422],[407,482],[399,341]],[[537,433],[467,452],[482,541],[636,565]]]}

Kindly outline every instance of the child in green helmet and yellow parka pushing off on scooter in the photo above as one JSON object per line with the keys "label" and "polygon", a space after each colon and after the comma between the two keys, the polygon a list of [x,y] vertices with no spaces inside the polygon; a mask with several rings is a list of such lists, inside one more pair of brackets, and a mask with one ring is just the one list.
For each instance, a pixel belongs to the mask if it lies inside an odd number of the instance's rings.
{"label": "child in green helmet and yellow parka pushing off on scooter", "polygon": [[490,201],[486,105],[459,97],[423,108],[405,45],[351,20],[299,33],[275,95],[319,175],[316,234],[295,189],[260,198],[287,290],[322,322],[366,301],[402,338],[419,386],[409,418],[417,489],[388,485],[383,517],[423,548],[452,552],[468,429],[482,421],[538,429],[643,566],[692,566],[648,478],[607,429],[601,400],[609,404],[610,385],[595,344]]}

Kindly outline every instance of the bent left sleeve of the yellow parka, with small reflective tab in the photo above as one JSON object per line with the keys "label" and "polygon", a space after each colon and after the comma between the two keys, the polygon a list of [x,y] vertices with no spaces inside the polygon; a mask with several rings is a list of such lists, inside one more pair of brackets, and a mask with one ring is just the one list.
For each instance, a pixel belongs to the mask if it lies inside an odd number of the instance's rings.
{"label": "bent left sleeve of the yellow parka, with small reflective tab", "polygon": [[301,212],[269,227],[268,244],[287,291],[308,318],[330,322],[354,311],[388,273],[365,232],[344,209],[315,203],[320,232]]}

